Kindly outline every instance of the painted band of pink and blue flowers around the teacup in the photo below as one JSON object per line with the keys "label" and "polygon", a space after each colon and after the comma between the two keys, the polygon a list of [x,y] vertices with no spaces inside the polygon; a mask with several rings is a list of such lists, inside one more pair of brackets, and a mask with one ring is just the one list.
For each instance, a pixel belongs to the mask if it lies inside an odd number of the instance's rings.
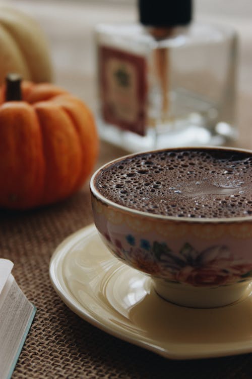
{"label": "painted band of pink and blue flowers around the teacup", "polygon": [[192,286],[223,286],[249,280],[252,277],[252,261],[234,259],[228,247],[214,245],[197,251],[188,243],[180,251],[172,251],[166,243],[147,239],[138,240],[133,234],[125,236],[123,243],[105,239],[114,255],[132,267],[151,276]]}

